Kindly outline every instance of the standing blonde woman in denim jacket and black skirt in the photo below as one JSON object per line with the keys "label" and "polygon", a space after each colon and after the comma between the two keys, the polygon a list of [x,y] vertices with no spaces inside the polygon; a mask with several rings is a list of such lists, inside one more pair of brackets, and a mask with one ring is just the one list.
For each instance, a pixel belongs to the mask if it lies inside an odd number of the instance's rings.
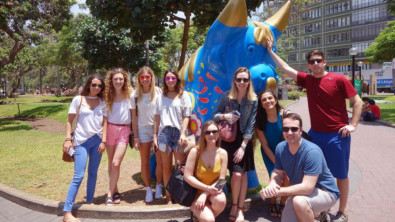
{"label": "standing blonde woman in denim jacket and black skirt", "polygon": [[[228,98],[230,98],[233,110],[231,110]],[[228,152],[228,169],[232,172],[230,221],[244,221],[244,201],[247,192],[247,174],[245,172],[255,169],[251,139],[254,132],[257,105],[258,100],[252,86],[250,71],[241,67],[235,72],[232,88],[222,94],[212,116],[214,122],[225,119],[231,124],[237,124],[235,141],[222,141],[222,148]],[[224,110],[226,114],[222,114]],[[239,111],[240,116],[233,114],[236,110]]]}

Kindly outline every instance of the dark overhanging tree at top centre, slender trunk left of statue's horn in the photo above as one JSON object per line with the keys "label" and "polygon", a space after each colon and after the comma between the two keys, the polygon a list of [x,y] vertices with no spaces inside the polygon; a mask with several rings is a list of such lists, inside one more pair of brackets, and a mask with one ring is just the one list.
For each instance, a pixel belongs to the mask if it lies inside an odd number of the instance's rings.
{"label": "dark overhanging tree at top centre, slender trunk left of statue's horn", "polygon": [[[165,28],[176,28],[176,22],[184,23],[179,68],[184,65],[189,29],[192,26],[207,27],[215,21],[228,0],[86,0],[91,13],[106,21],[115,21],[114,32],[130,29],[129,36],[136,43],[155,38],[163,41],[158,33]],[[260,6],[260,0],[246,1],[247,13]],[[185,18],[176,14],[182,12]],[[194,15],[191,18],[191,15]]]}

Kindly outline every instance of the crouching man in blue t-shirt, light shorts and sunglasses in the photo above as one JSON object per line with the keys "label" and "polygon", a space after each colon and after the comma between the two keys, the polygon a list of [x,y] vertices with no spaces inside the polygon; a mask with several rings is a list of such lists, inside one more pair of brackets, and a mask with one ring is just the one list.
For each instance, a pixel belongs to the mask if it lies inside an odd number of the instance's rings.
{"label": "crouching man in blue t-shirt, light shorts and sunglasses", "polygon": [[[276,147],[275,166],[269,185],[262,188],[262,199],[293,196],[285,203],[281,221],[329,222],[328,209],[339,199],[340,192],[329,171],[320,147],[302,138],[302,119],[288,113],[282,120],[286,141]],[[280,187],[284,171],[291,186]],[[320,213],[321,212],[321,213]]]}

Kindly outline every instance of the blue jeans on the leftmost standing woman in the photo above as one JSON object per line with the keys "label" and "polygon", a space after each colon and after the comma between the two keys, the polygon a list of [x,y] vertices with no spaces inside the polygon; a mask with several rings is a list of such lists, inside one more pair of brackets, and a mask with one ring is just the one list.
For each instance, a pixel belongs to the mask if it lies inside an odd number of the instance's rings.
{"label": "blue jeans on the leftmost standing woman", "polygon": [[102,160],[102,154],[98,154],[98,148],[102,139],[95,134],[90,137],[83,144],[74,147],[74,177],[71,180],[69,190],[66,196],[66,203],[64,203],[64,212],[71,212],[75,197],[79,186],[81,185],[82,179],[84,178],[85,169],[87,168],[88,156],[88,180],[87,180],[87,202],[92,203],[93,194],[96,188],[96,179],[100,160]]}

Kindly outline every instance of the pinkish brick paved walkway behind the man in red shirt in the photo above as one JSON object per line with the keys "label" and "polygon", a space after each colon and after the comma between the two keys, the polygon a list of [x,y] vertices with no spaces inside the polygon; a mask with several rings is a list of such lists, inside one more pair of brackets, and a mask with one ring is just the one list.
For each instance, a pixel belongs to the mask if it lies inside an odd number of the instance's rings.
{"label": "pinkish brick paved walkway behind the man in red shirt", "polygon": [[[310,128],[307,107],[306,97],[288,107],[301,115],[305,131]],[[350,158],[361,169],[362,181],[348,198],[349,222],[395,222],[394,141],[395,129],[376,122],[361,121],[352,133]]]}

